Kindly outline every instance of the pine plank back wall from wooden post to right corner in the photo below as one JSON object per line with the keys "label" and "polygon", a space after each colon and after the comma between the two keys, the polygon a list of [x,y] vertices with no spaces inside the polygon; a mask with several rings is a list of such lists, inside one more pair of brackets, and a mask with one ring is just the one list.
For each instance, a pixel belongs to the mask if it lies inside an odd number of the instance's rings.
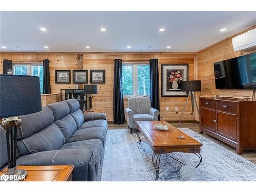
{"label": "pine plank back wall from wooden post to right corner", "polygon": [[[113,77],[114,59],[122,59],[123,62],[149,62],[152,58],[158,58],[159,85],[161,95],[161,64],[164,63],[188,63],[189,79],[194,79],[194,53],[85,53],[83,54],[83,69],[105,69],[105,84],[98,84],[98,95],[93,98],[93,107],[104,111],[110,121],[113,121]],[[90,79],[90,77],[89,77]],[[161,120],[179,120],[186,97],[160,97]],[[166,111],[166,106],[169,111]],[[175,112],[178,106],[178,113]],[[127,98],[124,98],[124,107],[127,107]],[[191,120],[190,103],[185,109],[182,120]]]}

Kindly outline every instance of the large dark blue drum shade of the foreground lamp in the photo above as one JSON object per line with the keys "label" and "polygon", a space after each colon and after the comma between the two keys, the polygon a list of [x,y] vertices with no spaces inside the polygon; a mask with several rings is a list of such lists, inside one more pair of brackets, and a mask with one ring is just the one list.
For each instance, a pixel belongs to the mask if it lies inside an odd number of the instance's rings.
{"label": "large dark blue drum shade of the foreground lamp", "polygon": [[39,77],[0,75],[0,117],[42,110]]}

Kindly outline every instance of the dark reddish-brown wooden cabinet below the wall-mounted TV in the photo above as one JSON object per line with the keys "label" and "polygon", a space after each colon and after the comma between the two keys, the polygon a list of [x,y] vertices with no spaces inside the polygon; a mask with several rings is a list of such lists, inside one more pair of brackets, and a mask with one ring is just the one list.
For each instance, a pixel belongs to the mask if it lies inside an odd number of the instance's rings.
{"label": "dark reddish-brown wooden cabinet below the wall-mounted TV", "polygon": [[256,149],[256,101],[200,97],[200,133],[233,147]]}

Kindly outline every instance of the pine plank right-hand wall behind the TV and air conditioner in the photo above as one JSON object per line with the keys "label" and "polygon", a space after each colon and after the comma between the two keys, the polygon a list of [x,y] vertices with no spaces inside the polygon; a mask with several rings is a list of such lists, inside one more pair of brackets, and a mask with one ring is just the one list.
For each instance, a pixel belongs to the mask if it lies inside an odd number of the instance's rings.
{"label": "pine plank right-hand wall behind the TV and air conditioner", "polygon": [[245,33],[251,29],[256,28],[252,26],[241,33],[228,37],[216,44],[207,47],[196,54],[196,67],[197,78],[202,81],[202,92],[198,96],[212,96],[212,95],[225,95],[233,97],[252,96],[252,90],[216,90],[215,89],[215,76],[214,76],[214,62],[246,55],[256,52],[256,49],[247,51],[234,52],[232,46],[232,38]]}

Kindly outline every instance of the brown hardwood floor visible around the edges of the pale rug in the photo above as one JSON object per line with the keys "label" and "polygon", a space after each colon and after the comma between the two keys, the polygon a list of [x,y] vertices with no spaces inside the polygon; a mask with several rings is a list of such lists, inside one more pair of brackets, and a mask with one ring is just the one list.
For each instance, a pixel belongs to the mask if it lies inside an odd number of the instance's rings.
{"label": "brown hardwood floor visible around the edges of the pale rug", "polygon": [[[180,123],[178,126],[178,123],[172,123],[172,125],[178,127],[178,128],[189,128],[190,130],[199,133],[199,124],[198,123]],[[113,122],[109,122],[109,130],[118,130],[118,129],[128,129],[127,123],[124,123],[122,125],[113,124]],[[207,134],[202,134],[204,137],[210,139],[211,141],[214,141],[215,143],[227,148],[229,151],[236,153],[236,149],[227,145],[226,143],[219,141],[218,139],[215,139]],[[245,150],[243,155],[241,155],[243,158],[253,162],[256,164],[256,150]]]}

